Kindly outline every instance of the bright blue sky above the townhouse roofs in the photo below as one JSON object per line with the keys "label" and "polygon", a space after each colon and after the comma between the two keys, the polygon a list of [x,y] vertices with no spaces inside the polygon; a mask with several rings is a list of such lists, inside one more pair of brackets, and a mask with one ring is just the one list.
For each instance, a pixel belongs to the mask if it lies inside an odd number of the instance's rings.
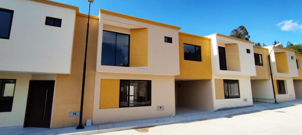
{"label": "bright blue sky above the townhouse roofs", "polygon": [[[88,14],[86,0],[54,1],[78,6]],[[301,0],[95,0],[90,13],[98,16],[99,8],[179,26],[181,32],[201,36],[230,35],[243,25],[254,42],[302,43]]]}

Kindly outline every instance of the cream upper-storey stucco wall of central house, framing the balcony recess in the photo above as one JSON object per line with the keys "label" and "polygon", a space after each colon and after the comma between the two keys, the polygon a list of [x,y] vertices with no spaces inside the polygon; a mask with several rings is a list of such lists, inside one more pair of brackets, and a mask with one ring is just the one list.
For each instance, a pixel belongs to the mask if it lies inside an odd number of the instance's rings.
{"label": "cream upper-storey stucco wall of central house, framing the balcony recess", "polygon": [[[121,67],[101,65],[102,37],[104,20],[122,23],[129,27],[148,28],[148,67]],[[130,30],[116,29],[116,32],[130,34]],[[131,36],[131,35],[130,35]],[[164,42],[164,37],[172,37],[172,43]],[[131,53],[131,52],[130,52]],[[97,66],[98,72],[117,72],[117,73],[135,73],[135,74],[156,74],[156,75],[179,75],[179,44],[178,30],[151,23],[144,23],[137,20],[131,20],[123,17],[100,13],[98,29],[98,51]]]}

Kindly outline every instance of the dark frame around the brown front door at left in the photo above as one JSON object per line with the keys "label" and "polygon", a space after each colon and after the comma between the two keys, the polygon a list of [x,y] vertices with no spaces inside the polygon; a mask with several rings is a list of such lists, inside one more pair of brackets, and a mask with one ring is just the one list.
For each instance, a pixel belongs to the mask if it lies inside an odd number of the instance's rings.
{"label": "dark frame around the brown front door at left", "polygon": [[[32,82],[52,82],[53,83],[53,97],[54,97],[54,89],[55,89],[55,80],[29,80],[29,87],[28,87],[28,93],[27,93],[27,102],[26,102],[26,109],[25,109],[25,117],[24,117],[24,124],[23,124],[23,127],[27,127],[27,122],[28,122],[28,102],[29,102],[29,99],[31,97],[29,97],[30,95],[30,90],[31,88],[33,87],[32,85]],[[52,97],[52,98],[53,98]],[[50,125],[51,125],[51,120],[52,120],[52,115],[53,115],[53,101],[52,101],[52,106],[51,106],[51,117],[50,117],[50,122],[49,122],[49,127],[50,128]]]}

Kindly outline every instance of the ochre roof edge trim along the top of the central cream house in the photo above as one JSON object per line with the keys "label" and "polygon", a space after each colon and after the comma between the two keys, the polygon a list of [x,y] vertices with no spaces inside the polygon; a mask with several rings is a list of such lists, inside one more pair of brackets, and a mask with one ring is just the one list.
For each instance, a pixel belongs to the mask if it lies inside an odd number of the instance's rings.
{"label": "ochre roof edge trim along the top of the central cream house", "polygon": [[164,26],[164,27],[168,27],[168,28],[172,28],[172,29],[177,29],[177,30],[181,29],[181,27],[178,27],[178,26],[173,26],[173,25],[169,25],[169,24],[165,24],[165,23],[159,23],[159,22],[146,20],[146,19],[138,18],[138,17],[133,17],[133,16],[126,15],[126,14],[120,14],[120,13],[117,13],[117,12],[108,11],[108,10],[104,10],[104,9],[100,9],[99,12],[104,13],[104,14],[110,14],[110,15],[115,15],[115,16],[118,16],[118,17],[131,19],[131,20],[137,20],[137,21],[141,21],[141,22],[145,22],[145,23],[151,23],[151,24],[155,24],[155,25],[159,25],[159,26]]}

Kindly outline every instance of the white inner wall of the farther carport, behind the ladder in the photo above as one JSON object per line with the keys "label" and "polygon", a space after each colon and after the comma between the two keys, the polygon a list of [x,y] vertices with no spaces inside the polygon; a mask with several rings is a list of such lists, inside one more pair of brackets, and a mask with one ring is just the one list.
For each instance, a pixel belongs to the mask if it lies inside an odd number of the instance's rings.
{"label": "white inner wall of the farther carport, behind the ladder", "polygon": [[274,99],[271,79],[251,80],[251,86],[253,98]]}

